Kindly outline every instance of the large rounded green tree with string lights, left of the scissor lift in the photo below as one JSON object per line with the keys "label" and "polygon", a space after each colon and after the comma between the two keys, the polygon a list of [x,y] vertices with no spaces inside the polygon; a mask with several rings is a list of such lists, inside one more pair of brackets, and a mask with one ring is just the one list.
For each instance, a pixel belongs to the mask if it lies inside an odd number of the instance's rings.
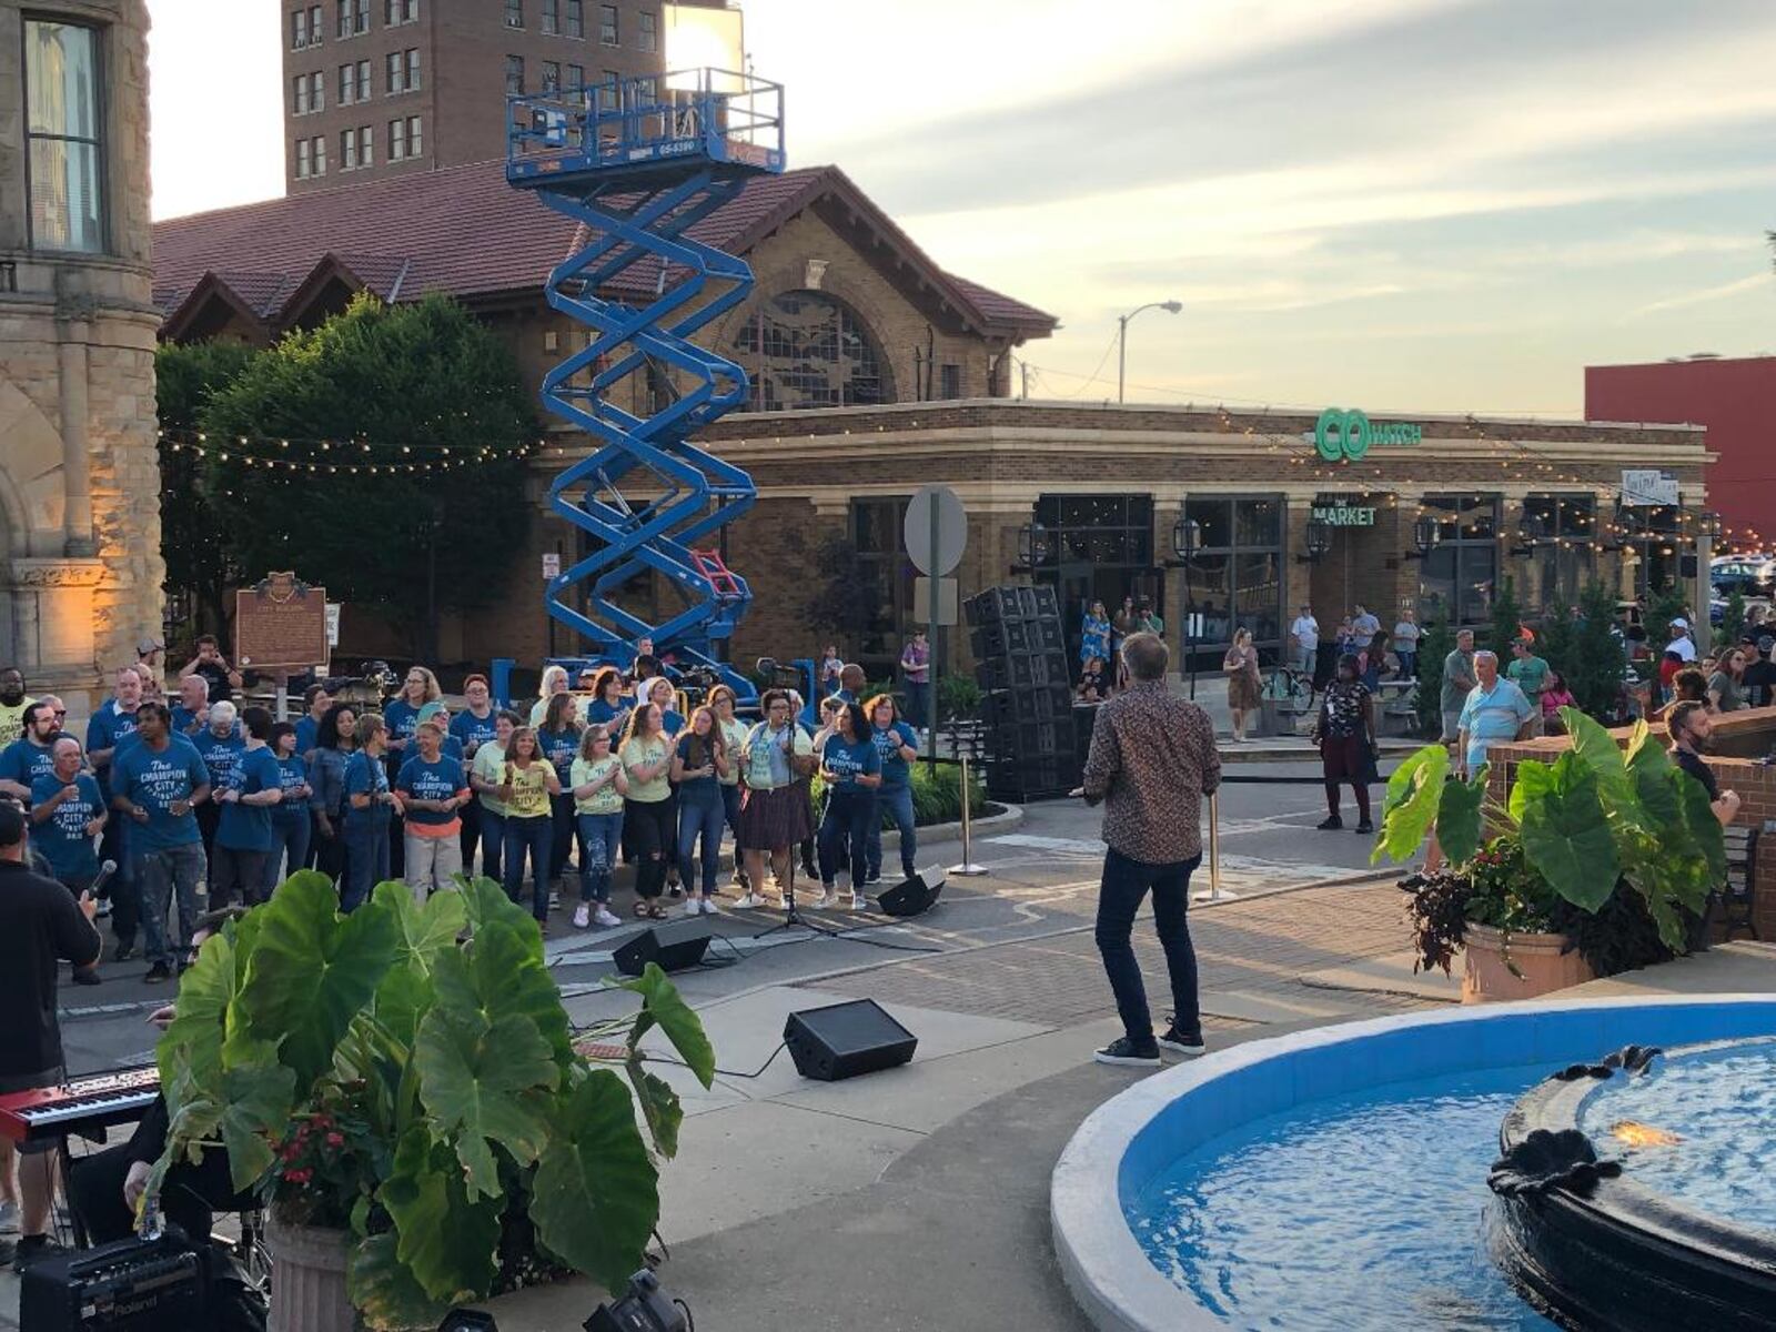
{"label": "large rounded green tree with string lights, left of the scissor lift", "polygon": [[384,614],[428,659],[439,613],[504,591],[529,522],[536,417],[511,350],[453,300],[361,295],[256,357],[199,421],[215,440],[336,442],[304,446],[295,471],[266,467],[263,446],[261,460],[250,448],[208,460],[247,577],[295,570]]}

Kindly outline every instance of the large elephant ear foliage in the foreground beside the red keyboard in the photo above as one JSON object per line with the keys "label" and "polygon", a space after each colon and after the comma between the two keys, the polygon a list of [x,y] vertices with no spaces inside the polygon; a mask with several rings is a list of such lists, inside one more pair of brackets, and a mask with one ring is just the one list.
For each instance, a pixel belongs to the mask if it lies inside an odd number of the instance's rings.
{"label": "large elephant ear foliage in the foreground beside the red keyboard", "polygon": [[657,1027],[705,1087],[716,1062],[657,966],[623,987],[641,1009],[599,1034],[627,1027],[627,1043],[599,1050],[627,1080],[575,1050],[536,924],[490,881],[424,906],[384,883],[345,916],[323,876],[293,874],[179,986],[155,1183],[222,1144],[236,1188],[282,1220],[350,1231],[371,1328],[437,1327],[496,1289],[515,1247],[622,1289],[659,1218],[655,1154],[677,1151],[684,1119],[636,1046]]}

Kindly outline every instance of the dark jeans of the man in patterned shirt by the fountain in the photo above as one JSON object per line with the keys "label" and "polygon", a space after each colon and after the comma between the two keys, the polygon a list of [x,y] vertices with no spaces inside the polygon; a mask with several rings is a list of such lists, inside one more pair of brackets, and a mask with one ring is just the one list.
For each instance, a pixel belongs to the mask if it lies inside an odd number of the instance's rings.
{"label": "dark jeans of the man in patterned shirt by the fountain", "polygon": [[1197,950],[1190,943],[1190,874],[1202,863],[1197,854],[1174,865],[1146,865],[1121,851],[1105,852],[1105,876],[1098,888],[1098,952],[1115,993],[1115,1011],[1122,1030],[1138,1046],[1153,1044],[1153,1014],[1147,989],[1140,984],[1140,966],[1130,936],[1135,913],[1153,890],[1153,925],[1165,948],[1165,970],[1172,975],[1172,1019],[1185,1035],[1202,1030],[1197,1012]]}

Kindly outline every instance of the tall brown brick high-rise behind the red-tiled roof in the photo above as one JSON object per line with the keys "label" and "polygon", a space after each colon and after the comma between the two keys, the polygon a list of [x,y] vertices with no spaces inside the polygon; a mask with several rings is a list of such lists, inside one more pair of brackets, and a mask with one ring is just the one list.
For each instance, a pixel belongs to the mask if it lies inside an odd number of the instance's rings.
{"label": "tall brown brick high-rise behind the red-tiled roof", "polygon": [[508,94],[659,75],[680,11],[725,4],[284,0],[284,186],[330,190],[504,156]]}

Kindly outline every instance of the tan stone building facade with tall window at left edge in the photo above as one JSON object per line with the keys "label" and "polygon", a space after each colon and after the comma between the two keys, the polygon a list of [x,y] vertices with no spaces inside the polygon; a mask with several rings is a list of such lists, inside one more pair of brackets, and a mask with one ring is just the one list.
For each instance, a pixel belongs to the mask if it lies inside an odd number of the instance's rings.
{"label": "tan stone building facade with tall window at left edge", "polygon": [[0,0],[0,662],[75,716],[162,630],[144,0]]}

